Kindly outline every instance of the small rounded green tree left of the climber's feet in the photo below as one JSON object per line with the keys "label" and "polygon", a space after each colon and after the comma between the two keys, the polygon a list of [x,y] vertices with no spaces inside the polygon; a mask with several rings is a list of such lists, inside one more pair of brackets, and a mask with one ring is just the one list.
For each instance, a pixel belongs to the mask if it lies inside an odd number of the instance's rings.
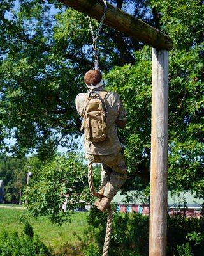
{"label": "small rounded green tree left of the climber's feet", "polygon": [[[75,153],[47,161],[33,173],[31,183],[24,189],[28,212],[34,217],[47,216],[58,224],[70,221],[71,212],[90,200],[86,173],[84,158]],[[62,211],[65,201],[67,211]]]}

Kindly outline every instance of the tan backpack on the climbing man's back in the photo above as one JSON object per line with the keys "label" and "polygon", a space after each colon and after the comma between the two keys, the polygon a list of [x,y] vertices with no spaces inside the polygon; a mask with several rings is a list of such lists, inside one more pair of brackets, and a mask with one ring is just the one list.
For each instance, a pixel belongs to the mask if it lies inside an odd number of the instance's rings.
{"label": "tan backpack on the climbing man's back", "polygon": [[84,135],[88,141],[97,143],[104,141],[107,135],[107,110],[104,99],[108,92],[89,92],[84,102],[82,118],[84,118]]}

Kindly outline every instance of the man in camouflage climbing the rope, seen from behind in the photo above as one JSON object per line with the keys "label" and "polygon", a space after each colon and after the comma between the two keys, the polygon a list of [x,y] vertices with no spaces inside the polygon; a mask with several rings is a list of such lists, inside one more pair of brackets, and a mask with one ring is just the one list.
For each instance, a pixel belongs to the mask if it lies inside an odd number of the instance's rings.
{"label": "man in camouflage climbing the rope, seen from behind", "polygon": [[[90,134],[89,136],[86,134],[84,136],[85,157],[93,163],[101,163],[101,188],[98,192],[101,195],[101,199],[97,200],[95,205],[99,210],[105,211],[128,177],[122,145],[117,136],[117,127],[126,127],[127,115],[119,95],[117,93],[103,91],[103,80],[99,70],[89,70],[84,76],[84,81],[89,92],[79,93],[75,100],[77,111],[84,118],[84,122],[87,121],[85,120],[87,117],[85,116],[85,111],[87,110],[87,104],[90,103],[90,99],[98,98],[98,103],[96,104],[97,100],[95,102],[92,100],[93,102],[91,107],[89,106],[89,109],[96,107],[96,105],[99,107],[99,98],[105,104],[105,109],[104,104],[102,104],[103,109],[101,110],[102,112],[106,112],[106,123],[102,125],[105,126],[105,130],[103,130],[105,132],[102,132],[100,140],[97,142],[91,140]],[[94,93],[96,95],[89,96],[90,92],[92,95]],[[96,113],[96,111],[92,111],[91,113]],[[99,124],[98,120],[91,124],[95,124],[95,127],[88,127],[89,132],[92,130],[96,134],[99,134],[100,132],[97,131],[98,127],[96,126],[100,126],[101,124]]]}

